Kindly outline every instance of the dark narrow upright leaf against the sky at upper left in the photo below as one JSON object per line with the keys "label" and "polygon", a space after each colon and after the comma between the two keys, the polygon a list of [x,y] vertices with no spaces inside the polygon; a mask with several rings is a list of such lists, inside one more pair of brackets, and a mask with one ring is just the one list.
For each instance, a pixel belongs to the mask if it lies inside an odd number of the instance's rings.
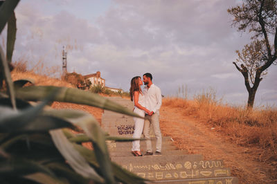
{"label": "dark narrow upright leaf against the sky at upper left", "polygon": [[15,36],[17,34],[17,19],[15,12],[12,12],[10,19],[8,19],[8,35],[7,35],[7,61],[12,62],[12,53],[15,48]]}

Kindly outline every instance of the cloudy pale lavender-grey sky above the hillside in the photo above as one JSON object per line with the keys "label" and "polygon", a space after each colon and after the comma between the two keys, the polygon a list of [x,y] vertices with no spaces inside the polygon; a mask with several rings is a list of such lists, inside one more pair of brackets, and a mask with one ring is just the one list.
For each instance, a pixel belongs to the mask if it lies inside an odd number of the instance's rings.
{"label": "cloudy pale lavender-grey sky above the hillside", "polygon": [[[248,33],[231,27],[227,9],[238,0],[22,0],[15,13],[13,59],[62,66],[68,71],[101,72],[106,85],[129,89],[136,75],[150,72],[163,95],[186,86],[190,98],[213,89],[224,102],[242,105],[247,90],[232,62]],[[3,40],[5,33],[2,33]],[[260,83],[256,106],[277,104],[277,66]]]}

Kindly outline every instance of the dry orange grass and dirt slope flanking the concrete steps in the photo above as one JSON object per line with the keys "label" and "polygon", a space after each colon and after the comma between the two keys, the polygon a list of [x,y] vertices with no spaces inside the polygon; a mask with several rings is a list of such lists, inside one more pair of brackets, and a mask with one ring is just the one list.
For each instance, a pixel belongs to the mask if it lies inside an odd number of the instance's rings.
{"label": "dry orange grass and dirt slope flanking the concrete steps", "polygon": [[[35,85],[74,87],[22,67],[12,71],[13,80],[29,78]],[[52,107],[87,111],[101,122],[102,109],[60,102]],[[277,183],[276,109],[247,111],[216,101],[213,93],[203,93],[193,100],[163,98],[160,112],[163,135],[171,136],[179,149],[206,159],[223,159],[241,183]]]}

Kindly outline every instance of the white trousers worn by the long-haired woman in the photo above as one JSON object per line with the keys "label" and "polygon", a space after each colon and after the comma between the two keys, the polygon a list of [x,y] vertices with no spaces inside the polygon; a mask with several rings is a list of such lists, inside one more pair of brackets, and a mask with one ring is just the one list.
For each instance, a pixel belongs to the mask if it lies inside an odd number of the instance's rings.
{"label": "white trousers worn by the long-haired woman", "polygon": [[[139,116],[144,117],[145,112],[137,107],[134,108],[134,113],[139,114]],[[143,125],[144,119],[143,118],[134,118],[134,134],[133,138],[141,138],[141,134],[143,133]],[[132,151],[141,151],[140,140],[134,140],[133,142]]]}

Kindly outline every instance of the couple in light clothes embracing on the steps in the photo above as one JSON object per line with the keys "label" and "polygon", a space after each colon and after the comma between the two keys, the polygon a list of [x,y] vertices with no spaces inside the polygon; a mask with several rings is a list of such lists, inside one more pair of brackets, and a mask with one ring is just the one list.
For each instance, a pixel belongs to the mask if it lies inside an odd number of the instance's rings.
{"label": "couple in light clothes embracing on the steps", "polygon": [[[143,90],[141,85],[145,84]],[[155,155],[161,155],[161,130],[159,125],[159,109],[161,107],[161,89],[152,83],[151,73],[141,77],[133,77],[130,88],[131,100],[134,101],[134,113],[139,114],[142,118],[134,118],[134,134],[133,138],[141,138],[141,134],[146,140],[146,153],[144,156],[153,155],[152,143],[150,140],[150,125],[154,129],[156,136],[156,152]],[[143,156],[140,149],[140,140],[132,142],[132,154],[134,156]]]}

